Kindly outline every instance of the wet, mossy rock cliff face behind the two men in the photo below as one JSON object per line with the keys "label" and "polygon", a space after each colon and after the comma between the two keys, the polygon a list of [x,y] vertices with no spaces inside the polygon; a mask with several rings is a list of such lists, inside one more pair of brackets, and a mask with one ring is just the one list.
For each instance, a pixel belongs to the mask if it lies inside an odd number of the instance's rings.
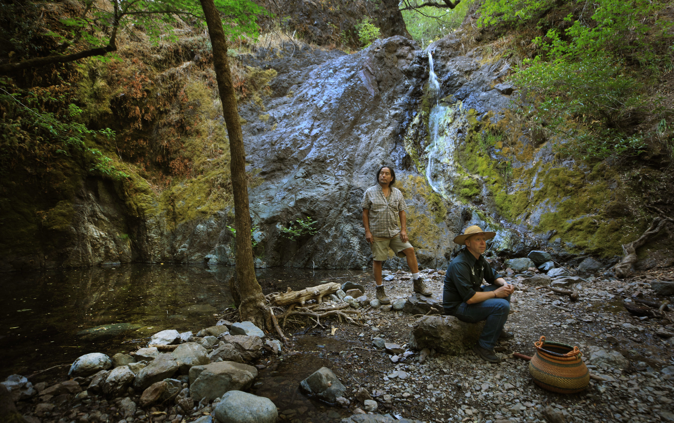
{"label": "wet, mossy rock cliff face behind the two men", "polygon": [[[428,87],[429,51],[441,94]],[[499,233],[490,254],[543,245],[558,258],[594,253],[606,260],[616,254],[607,243],[617,247],[640,230],[616,234],[617,206],[608,208],[614,215],[592,212],[621,201],[615,172],[559,161],[547,140],[508,110],[512,100],[526,101],[502,83],[508,61],[466,52],[456,36],[425,51],[392,36],[352,55],[288,44],[240,59],[278,73],[269,96],[240,107],[255,180],[249,195],[257,266],[369,266],[359,203],[384,164],[396,168],[396,186],[408,199],[408,232],[424,266],[445,264],[458,248],[452,238],[466,225]],[[231,209],[176,221],[171,202],[160,201],[162,194],[138,176],[71,179],[75,200],[44,213],[30,229],[40,242],[0,258],[0,269],[233,264]],[[21,204],[3,208],[19,213]],[[284,236],[282,227],[306,217],[316,222],[315,235]],[[387,262],[402,265],[393,257]]]}

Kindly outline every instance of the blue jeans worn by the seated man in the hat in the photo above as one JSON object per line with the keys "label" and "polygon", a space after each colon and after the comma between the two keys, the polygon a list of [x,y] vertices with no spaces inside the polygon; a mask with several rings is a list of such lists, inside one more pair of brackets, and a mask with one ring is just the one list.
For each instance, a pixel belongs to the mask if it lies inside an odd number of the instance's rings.
{"label": "blue jeans worn by the seated man in the hat", "polygon": [[[499,287],[496,285],[482,286],[482,289],[485,292],[495,291],[498,288]],[[505,320],[508,320],[509,313],[510,295],[508,295],[508,298],[489,298],[489,300],[475,304],[462,302],[456,310],[454,310],[452,316],[470,323],[487,320],[485,329],[482,330],[478,343],[484,349],[489,349],[489,351],[491,351],[494,349],[496,341],[498,341],[499,336],[501,335],[503,325],[505,325]]]}

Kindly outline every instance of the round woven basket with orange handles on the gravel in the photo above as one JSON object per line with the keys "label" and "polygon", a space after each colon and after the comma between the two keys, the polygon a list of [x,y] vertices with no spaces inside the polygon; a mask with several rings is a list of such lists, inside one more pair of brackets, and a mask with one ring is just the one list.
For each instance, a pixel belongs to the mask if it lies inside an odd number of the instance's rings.
{"label": "round woven basket with orange handles on the gravel", "polygon": [[578,347],[545,341],[545,337],[534,342],[534,347],[529,373],[536,385],[558,393],[580,392],[589,385],[590,372]]}

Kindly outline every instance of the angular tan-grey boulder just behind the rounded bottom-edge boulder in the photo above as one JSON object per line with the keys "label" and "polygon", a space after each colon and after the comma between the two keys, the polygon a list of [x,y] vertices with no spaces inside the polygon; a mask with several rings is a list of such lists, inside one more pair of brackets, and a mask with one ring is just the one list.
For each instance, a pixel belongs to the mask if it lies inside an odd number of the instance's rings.
{"label": "angular tan-grey boulder just behind the rounded bottom-edge boulder", "polygon": [[213,401],[228,391],[247,389],[257,376],[253,366],[219,362],[189,369],[189,393],[195,401]]}

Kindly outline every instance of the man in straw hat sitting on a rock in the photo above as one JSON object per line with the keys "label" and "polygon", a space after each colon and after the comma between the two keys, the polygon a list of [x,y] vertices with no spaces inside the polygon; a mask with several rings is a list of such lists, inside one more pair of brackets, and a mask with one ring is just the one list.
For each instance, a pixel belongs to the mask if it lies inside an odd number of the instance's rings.
{"label": "man in straw hat sitting on a rock", "polygon": [[[445,314],[464,322],[487,320],[474,351],[492,363],[501,361],[494,352],[496,341],[514,337],[512,333],[503,331],[514,287],[505,283],[505,279],[495,273],[482,256],[487,248],[487,239],[495,236],[495,232],[484,232],[473,225],[466,228],[463,235],[454,238],[456,244],[466,248],[450,262],[442,295]],[[481,286],[483,279],[489,285]]]}

